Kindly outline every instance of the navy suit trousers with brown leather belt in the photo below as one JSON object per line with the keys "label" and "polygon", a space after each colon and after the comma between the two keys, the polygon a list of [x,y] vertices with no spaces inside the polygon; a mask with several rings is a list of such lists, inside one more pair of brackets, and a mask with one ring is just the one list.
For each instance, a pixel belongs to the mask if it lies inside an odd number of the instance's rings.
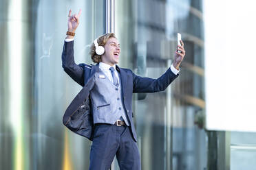
{"label": "navy suit trousers with brown leather belt", "polygon": [[129,127],[106,123],[96,124],[89,157],[89,169],[109,169],[115,155],[120,170],[141,169],[138,146],[132,138]]}

